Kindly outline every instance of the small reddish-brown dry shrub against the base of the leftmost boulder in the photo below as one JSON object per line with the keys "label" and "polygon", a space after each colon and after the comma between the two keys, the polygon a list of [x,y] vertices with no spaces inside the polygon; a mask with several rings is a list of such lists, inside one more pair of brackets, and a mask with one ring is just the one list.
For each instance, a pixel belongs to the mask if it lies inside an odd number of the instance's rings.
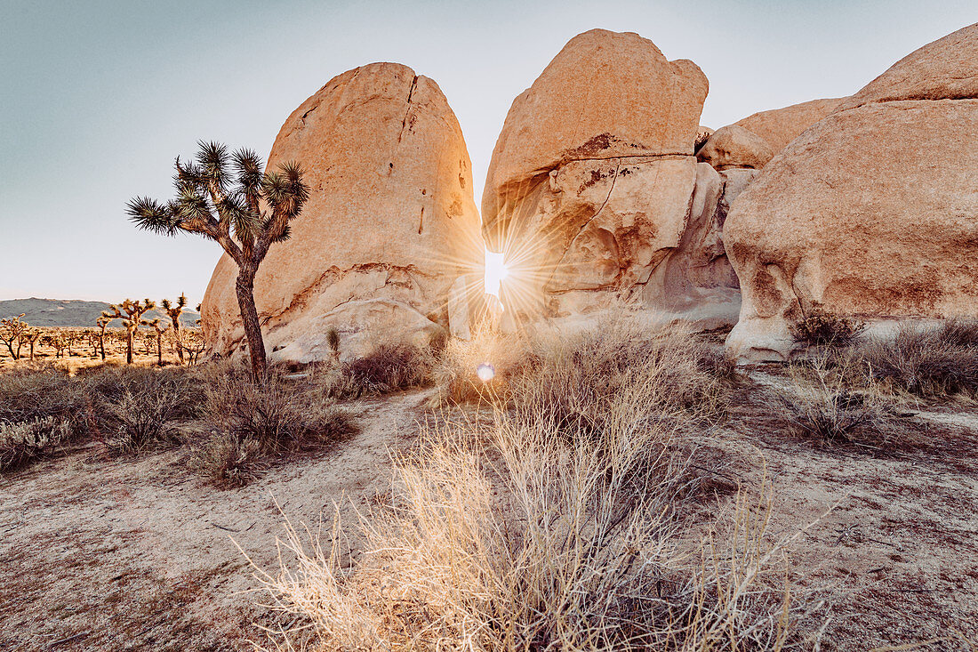
{"label": "small reddish-brown dry shrub against the base of the leftmost boulder", "polygon": [[389,394],[429,382],[432,350],[409,345],[379,345],[369,354],[339,367],[333,396],[359,398]]}

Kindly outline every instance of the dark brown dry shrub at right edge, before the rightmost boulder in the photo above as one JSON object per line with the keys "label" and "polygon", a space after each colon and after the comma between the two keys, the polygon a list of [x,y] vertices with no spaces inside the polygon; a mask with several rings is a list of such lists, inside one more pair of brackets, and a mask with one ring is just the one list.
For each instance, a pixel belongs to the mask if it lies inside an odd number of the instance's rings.
{"label": "dark brown dry shrub at right edge, before the rightmost boulder", "polygon": [[873,339],[856,353],[850,363],[869,380],[928,398],[978,397],[978,320],[903,325],[892,341]]}

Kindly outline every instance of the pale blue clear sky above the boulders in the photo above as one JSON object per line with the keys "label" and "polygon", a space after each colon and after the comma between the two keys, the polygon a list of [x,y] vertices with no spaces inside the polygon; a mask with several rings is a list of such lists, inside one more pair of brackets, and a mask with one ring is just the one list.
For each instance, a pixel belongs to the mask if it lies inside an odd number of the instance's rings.
{"label": "pale blue clear sky above the boulders", "polygon": [[0,0],[0,300],[200,302],[221,251],[135,229],[198,140],[268,155],[334,75],[378,61],[433,78],[466,136],[479,204],[512,99],[563,44],[635,31],[690,59],[702,124],[859,90],[978,21],[974,0],[218,2]]}

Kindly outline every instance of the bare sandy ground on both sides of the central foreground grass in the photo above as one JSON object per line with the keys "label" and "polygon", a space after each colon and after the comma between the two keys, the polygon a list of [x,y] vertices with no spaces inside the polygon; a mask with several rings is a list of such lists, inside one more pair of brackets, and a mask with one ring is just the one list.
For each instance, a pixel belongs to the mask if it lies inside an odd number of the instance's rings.
{"label": "bare sandy ground on both sides of the central foreground grass", "polygon": [[[288,623],[242,592],[257,582],[231,537],[274,570],[276,501],[313,525],[343,496],[367,507],[429,395],[350,403],[360,434],[244,489],[201,484],[181,452],[112,459],[94,445],[0,479],[0,650],[251,649],[255,623]],[[918,442],[889,451],[801,441],[750,415],[709,442],[727,477],[757,487],[766,472],[773,536],[815,523],[787,568],[797,599],[824,601],[807,624],[824,626],[821,650],[978,649],[978,408],[907,418]]]}

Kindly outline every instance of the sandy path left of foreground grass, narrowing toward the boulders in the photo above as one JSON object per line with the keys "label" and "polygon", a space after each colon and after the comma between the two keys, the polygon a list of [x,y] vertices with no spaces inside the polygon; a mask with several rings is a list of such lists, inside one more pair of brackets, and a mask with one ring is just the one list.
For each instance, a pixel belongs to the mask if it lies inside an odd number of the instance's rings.
{"label": "sandy path left of foreground grass, narrowing toward the boulders", "polygon": [[350,405],[362,431],[244,489],[202,485],[186,453],[111,459],[96,447],[0,479],[0,650],[237,650],[259,638],[256,564],[277,567],[289,519],[311,524],[389,482],[424,392]]}

